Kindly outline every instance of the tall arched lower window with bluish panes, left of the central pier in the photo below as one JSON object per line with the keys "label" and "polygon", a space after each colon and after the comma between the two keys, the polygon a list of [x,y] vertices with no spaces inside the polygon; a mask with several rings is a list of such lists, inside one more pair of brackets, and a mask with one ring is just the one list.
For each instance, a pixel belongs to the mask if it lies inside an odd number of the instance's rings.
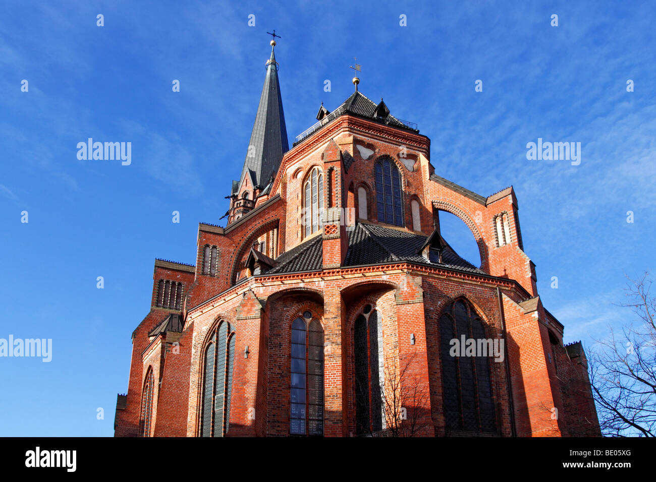
{"label": "tall arched lower window with bluish panes, left of the central pier", "polygon": [[[306,319],[312,313],[304,313]],[[323,435],[323,327],[302,317],[291,325],[291,435]]]}

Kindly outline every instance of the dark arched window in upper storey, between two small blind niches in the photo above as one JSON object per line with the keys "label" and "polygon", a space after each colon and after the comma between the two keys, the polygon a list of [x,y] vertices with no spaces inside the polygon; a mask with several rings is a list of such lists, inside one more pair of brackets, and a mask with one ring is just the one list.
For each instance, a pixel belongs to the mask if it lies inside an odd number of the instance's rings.
{"label": "dark arched window in upper storey, between two small blind niches", "polygon": [[376,207],[379,222],[405,226],[403,220],[403,188],[401,174],[393,161],[384,157],[374,167]]}

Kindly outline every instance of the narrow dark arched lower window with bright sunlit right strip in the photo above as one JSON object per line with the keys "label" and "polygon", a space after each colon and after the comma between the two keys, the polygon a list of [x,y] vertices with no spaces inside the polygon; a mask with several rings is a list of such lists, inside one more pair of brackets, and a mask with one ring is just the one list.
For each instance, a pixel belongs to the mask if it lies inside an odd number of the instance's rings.
{"label": "narrow dark arched lower window with bright sunlit right strip", "polygon": [[364,311],[354,325],[357,435],[383,428],[382,325],[371,305]]}

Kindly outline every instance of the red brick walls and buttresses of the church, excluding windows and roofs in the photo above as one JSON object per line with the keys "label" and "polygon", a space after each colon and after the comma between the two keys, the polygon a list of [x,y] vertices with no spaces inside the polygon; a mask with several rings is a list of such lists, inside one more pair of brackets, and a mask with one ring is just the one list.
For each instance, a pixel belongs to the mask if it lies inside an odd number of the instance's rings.
{"label": "red brick walls and buttresses of the church, excluding windows and roofs", "polygon": [[[361,148],[373,153],[363,158]],[[132,336],[127,397],[125,406],[122,401],[117,406],[115,436],[138,435],[149,367],[155,384],[148,435],[200,435],[203,351],[220,321],[236,332],[226,436],[288,436],[291,323],[305,311],[323,327],[323,433],[355,435],[354,323],[367,305],[379,313],[384,368],[407,366],[401,386],[426,388],[426,403],[407,407],[409,418],[419,420],[419,435],[457,435],[447,429],[442,409],[439,320],[459,298],[474,307],[488,338],[505,341],[504,363],[491,363],[497,435],[600,435],[585,355],[568,354],[563,326],[539,300],[535,266],[521,243],[514,190],[505,188],[487,198],[474,195],[435,176],[429,155],[426,136],[344,114],[285,153],[270,191],[256,200],[255,210],[226,228],[199,225],[195,268],[174,262],[155,265],[150,312]],[[383,156],[401,174],[405,227],[396,229],[427,236],[436,211],[459,216],[478,243],[481,273],[401,261],[344,267],[347,227],[343,218],[337,222],[334,217],[313,233],[323,243],[321,270],[247,271],[244,262],[254,243],[263,242],[264,254],[273,250],[277,256],[306,241],[302,186],[314,167],[323,172],[326,208],[352,209],[357,216],[364,192],[366,218],[359,221],[381,224],[374,163]],[[413,226],[413,200],[420,205],[420,226]],[[499,247],[495,216],[501,213],[508,219],[510,242]],[[205,245],[218,249],[215,276],[201,271]],[[159,279],[183,283],[180,311],[157,308]],[[170,313],[184,318],[182,332],[149,336]]]}

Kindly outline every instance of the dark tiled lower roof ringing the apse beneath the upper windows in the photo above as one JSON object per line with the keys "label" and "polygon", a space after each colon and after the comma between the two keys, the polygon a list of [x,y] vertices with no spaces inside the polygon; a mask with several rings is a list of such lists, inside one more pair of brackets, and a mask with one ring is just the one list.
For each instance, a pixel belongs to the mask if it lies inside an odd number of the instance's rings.
{"label": "dark tiled lower roof ringing the apse beneath the upper windows", "polygon": [[[412,262],[484,273],[458,256],[446,242],[446,247],[442,252],[442,263],[438,263],[437,253],[434,252],[431,252],[431,260],[428,262],[419,253],[419,249],[425,241],[426,236],[424,235],[358,223],[354,230],[348,231],[348,252],[346,252],[344,267]],[[276,263],[276,268],[267,271],[268,274],[321,271],[323,265],[321,235],[284,252],[276,258]]]}

